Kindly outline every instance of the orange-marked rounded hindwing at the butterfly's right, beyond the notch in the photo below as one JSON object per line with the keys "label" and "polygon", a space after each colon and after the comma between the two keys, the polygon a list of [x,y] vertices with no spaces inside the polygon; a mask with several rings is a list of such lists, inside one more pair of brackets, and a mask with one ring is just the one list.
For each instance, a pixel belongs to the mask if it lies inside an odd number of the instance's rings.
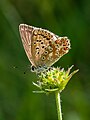
{"label": "orange-marked rounded hindwing at the butterfly's right, beyond the notch", "polygon": [[[70,40],[67,37],[58,37],[57,40],[51,42],[47,47],[48,55],[46,56],[47,66],[53,65],[63,55],[69,52]],[[44,54],[45,55],[45,54]]]}

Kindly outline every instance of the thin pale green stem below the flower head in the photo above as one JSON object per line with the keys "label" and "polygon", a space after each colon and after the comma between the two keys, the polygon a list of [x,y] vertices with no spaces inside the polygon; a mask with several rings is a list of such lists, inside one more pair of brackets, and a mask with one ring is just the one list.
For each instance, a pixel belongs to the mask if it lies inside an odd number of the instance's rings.
{"label": "thin pale green stem below the flower head", "polygon": [[57,106],[58,120],[62,120],[60,93],[58,91],[55,92],[55,97],[56,97],[56,106]]}

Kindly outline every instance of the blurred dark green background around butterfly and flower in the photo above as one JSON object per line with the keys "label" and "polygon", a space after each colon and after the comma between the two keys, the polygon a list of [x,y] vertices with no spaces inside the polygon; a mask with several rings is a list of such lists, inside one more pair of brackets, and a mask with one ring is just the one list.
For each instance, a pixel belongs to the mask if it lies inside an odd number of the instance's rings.
{"label": "blurred dark green background around butterfly and flower", "polygon": [[20,23],[71,40],[54,66],[80,71],[61,94],[63,120],[90,120],[90,0],[0,0],[0,120],[57,120],[54,95],[33,94],[35,73],[18,31]]}

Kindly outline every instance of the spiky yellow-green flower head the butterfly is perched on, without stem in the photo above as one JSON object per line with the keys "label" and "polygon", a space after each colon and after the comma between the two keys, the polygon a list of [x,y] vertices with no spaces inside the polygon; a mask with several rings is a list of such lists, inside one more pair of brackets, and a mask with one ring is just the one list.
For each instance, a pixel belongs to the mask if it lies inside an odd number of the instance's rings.
{"label": "spiky yellow-green flower head the butterfly is perched on, without stem", "polygon": [[73,65],[67,71],[64,68],[50,67],[38,75],[39,81],[33,83],[40,88],[42,92],[50,93],[53,91],[62,91],[67,85],[70,78],[78,72],[78,70],[70,73]]}

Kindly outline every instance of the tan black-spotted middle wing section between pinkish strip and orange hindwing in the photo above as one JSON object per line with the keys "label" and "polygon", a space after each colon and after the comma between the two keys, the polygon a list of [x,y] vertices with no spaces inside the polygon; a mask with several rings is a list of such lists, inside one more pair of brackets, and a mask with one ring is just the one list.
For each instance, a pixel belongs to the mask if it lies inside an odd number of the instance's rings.
{"label": "tan black-spotted middle wing section between pinkish strip and orange hindwing", "polygon": [[47,51],[47,48],[50,46],[50,43],[54,43],[57,38],[55,35],[47,30],[36,28],[33,31],[32,43],[31,43],[31,52],[34,58],[34,63],[36,66],[47,66],[47,63],[50,61],[47,59],[50,52]]}

